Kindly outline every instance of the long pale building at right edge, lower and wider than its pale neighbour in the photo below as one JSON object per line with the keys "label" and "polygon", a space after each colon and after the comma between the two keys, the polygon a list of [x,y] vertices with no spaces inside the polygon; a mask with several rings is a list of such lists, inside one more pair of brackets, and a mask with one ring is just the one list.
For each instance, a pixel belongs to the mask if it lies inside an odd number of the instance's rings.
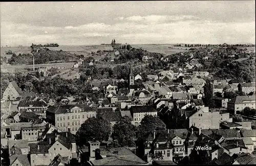
{"label": "long pale building at right edge, lower and wider than its pale neighbour", "polygon": [[234,114],[240,113],[245,107],[255,107],[255,95],[253,96],[237,96],[227,103],[227,109],[234,112]]}

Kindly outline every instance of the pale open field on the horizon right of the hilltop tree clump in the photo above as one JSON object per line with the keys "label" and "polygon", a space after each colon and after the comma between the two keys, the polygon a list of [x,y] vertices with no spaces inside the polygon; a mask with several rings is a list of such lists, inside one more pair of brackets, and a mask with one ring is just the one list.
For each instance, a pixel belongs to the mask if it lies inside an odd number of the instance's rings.
{"label": "pale open field on the horizon right of the hilltop tree clump", "polygon": [[[175,53],[180,53],[180,52],[185,52],[186,49],[189,50],[189,48],[186,48],[184,46],[173,46],[171,44],[145,44],[145,45],[132,45],[133,48],[135,49],[143,49],[148,52],[155,52],[155,53],[162,53],[165,55],[170,55],[170,54],[175,54]],[[170,49],[170,48],[175,48],[175,49]]]}

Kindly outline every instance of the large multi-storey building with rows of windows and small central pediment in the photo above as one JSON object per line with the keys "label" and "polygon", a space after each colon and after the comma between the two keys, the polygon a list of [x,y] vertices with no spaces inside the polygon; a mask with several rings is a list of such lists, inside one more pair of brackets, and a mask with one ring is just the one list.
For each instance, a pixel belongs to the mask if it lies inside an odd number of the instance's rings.
{"label": "large multi-storey building with rows of windows and small central pediment", "polygon": [[51,106],[46,111],[46,116],[63,132],[70,131],[75,134],[84,121],[89,117],[96,117],[96,111],[96,107],[83,104],[61,105]]}

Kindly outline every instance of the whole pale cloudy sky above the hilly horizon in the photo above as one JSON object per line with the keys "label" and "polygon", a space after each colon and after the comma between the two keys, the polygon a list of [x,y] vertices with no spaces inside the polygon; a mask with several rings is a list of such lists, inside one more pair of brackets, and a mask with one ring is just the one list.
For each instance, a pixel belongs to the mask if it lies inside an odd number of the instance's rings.
{"label": "whole pale cloudy sky above the hilly horizon", "polygon": [[255,1],[0,3],[1,45],[255,43]]}

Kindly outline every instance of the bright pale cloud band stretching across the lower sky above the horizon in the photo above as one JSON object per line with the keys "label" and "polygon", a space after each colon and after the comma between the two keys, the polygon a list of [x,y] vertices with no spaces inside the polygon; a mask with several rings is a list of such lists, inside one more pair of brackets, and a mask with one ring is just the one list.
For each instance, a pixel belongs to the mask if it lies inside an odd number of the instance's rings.
{"label": "bright pale cloud band stretching across the lower sky above the horizon", "polygon": [[253,43],[255,42],[255,21],[219,22],[199,20],[198,17],[190,15],[148,15],[119,18],[119,21],[113,24],[92,22],[66,27],[1,22],[1,43],[4,45],[49,42],[100,44],[109,43],[112,38],[118,42],[131,44]]}

